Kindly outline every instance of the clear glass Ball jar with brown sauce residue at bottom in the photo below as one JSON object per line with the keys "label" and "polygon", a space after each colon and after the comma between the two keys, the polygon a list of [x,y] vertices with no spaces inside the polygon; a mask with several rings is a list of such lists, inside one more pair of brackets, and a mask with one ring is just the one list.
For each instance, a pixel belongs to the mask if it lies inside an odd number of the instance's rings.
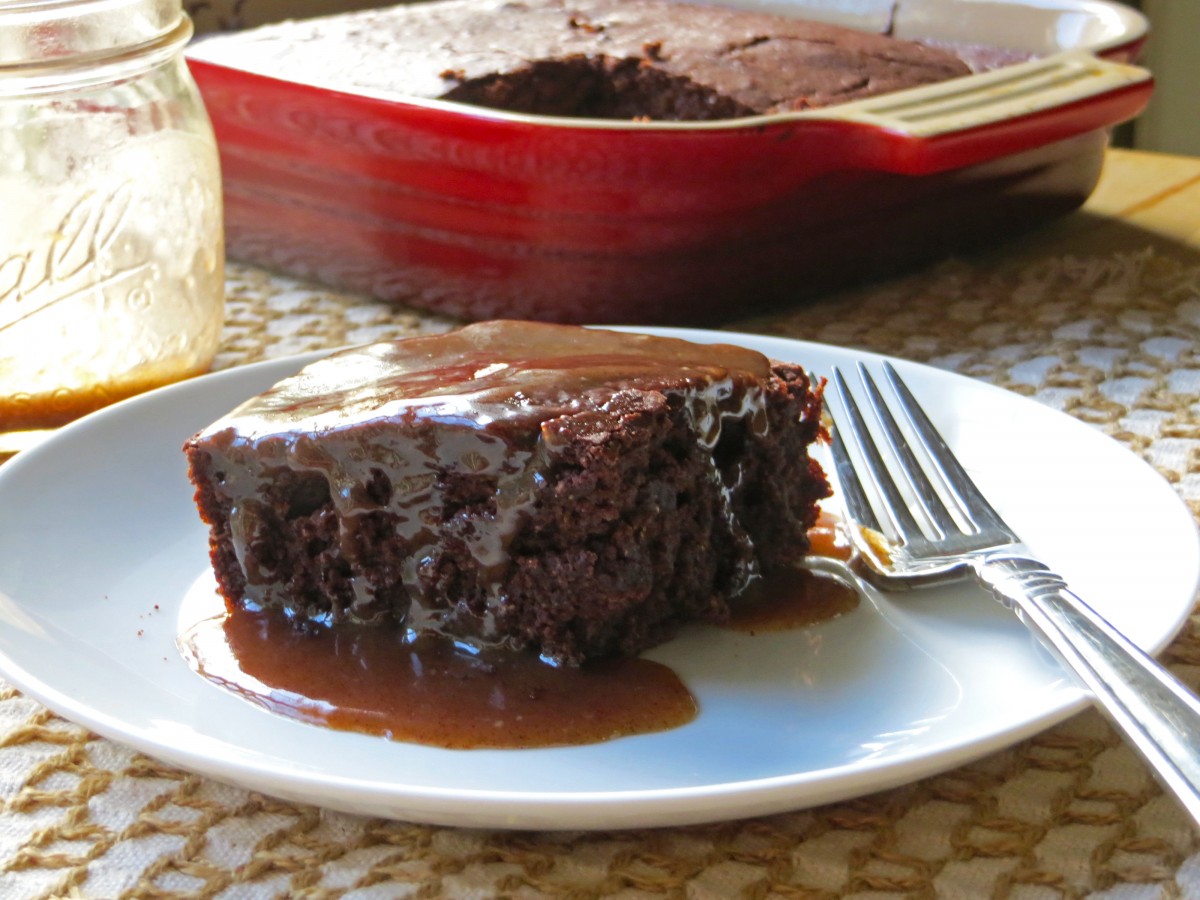
{"label": "clear glass Ball jar with brown sauce residue at bottom", "polygon": [[216,142],[180,0],[0,0],[0,458],[203,372]]}

